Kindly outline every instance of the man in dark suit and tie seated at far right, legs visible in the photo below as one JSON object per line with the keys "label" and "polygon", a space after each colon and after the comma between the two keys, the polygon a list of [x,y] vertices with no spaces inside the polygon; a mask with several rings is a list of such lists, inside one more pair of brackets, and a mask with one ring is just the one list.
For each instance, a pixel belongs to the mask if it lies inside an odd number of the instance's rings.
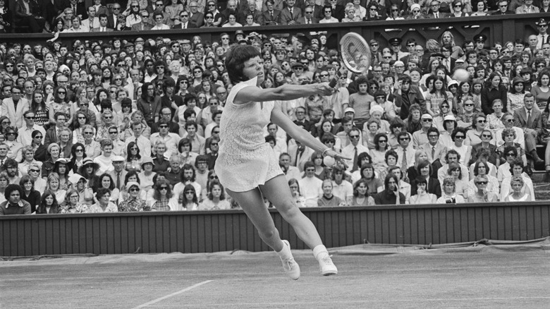
{"label": "man in dark suit and tie seated at far right, legs visible", "polygon": [[530,92],[523,97],[523,104],[524,108],[514,111],[514,126],[522,128],[525,133],[525,152],[531,155],[535,164],[544,164],[537,154],[537,138],[542,133],[542,113],[539,109],[533,109],[534,95]]}

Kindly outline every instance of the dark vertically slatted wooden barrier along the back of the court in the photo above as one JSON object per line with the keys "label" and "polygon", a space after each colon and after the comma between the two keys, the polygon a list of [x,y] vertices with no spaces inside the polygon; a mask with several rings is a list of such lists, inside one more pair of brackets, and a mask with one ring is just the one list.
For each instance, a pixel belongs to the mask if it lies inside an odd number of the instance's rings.
{"label": "dark vertically slatted wooden barrier along the back of the court", "polygon": [[[550,236],[548,202],[302,211],[317,226],[327,247],[360,243],[424,245],[482,238],[527,241]],[[271,210],[271,215],[281,236],[293,248],[305,248],[278,212]],[[269,250],[239,210],[3,216],[0,232],[0,256]]]}

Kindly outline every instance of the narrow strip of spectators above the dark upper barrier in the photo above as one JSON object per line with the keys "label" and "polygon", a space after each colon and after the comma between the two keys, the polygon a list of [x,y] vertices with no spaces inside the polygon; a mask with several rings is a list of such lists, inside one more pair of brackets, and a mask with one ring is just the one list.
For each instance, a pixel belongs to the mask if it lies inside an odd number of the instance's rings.
{"label": "narrow strip of spectators above the dark upper barrier", "polygon": [[[0,0],[0,32],[106,32],[548,13],[549,0]],[[126,4],[126,5],[121,5]]]}

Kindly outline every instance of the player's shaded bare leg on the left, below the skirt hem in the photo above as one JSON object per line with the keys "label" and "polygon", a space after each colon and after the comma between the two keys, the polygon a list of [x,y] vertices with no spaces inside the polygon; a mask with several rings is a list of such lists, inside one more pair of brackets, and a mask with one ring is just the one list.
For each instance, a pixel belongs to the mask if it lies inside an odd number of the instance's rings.
{"label": "player's shaded bare leg on the left, below the skirt hem", "polygon": [[[287,186],[288,187],[288,186]],[[267,208],[264,206],[264,199],[262,193],[258,188],[252,189],[246,192],[233,192],[227,190],[229,195],[234,198],[243,208],[245,214],[250,218],[252,224],[258,230],[259,237],[262,238],[267,246],[271,247],[275,251],[281,251],[283,249],[283,242],[279,236],[279,231],[275,228],[273,219]]]}

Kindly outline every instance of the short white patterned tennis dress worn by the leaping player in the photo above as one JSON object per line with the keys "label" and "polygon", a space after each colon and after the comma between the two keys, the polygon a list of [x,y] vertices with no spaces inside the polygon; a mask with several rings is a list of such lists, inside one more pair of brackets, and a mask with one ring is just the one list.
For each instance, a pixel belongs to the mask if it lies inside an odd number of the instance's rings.
{"label": "short white patterned tennis dress worn by the leaping player", "polygon": [[220,183],[234,192],[252,190],[283,174],[279,158],[264,138],[263,129],[271,119],[274,102],[233,104],[237,93],[256,86],[256,81],[252,78],[233,86],[221,114],[220,148],[214,171]]}

